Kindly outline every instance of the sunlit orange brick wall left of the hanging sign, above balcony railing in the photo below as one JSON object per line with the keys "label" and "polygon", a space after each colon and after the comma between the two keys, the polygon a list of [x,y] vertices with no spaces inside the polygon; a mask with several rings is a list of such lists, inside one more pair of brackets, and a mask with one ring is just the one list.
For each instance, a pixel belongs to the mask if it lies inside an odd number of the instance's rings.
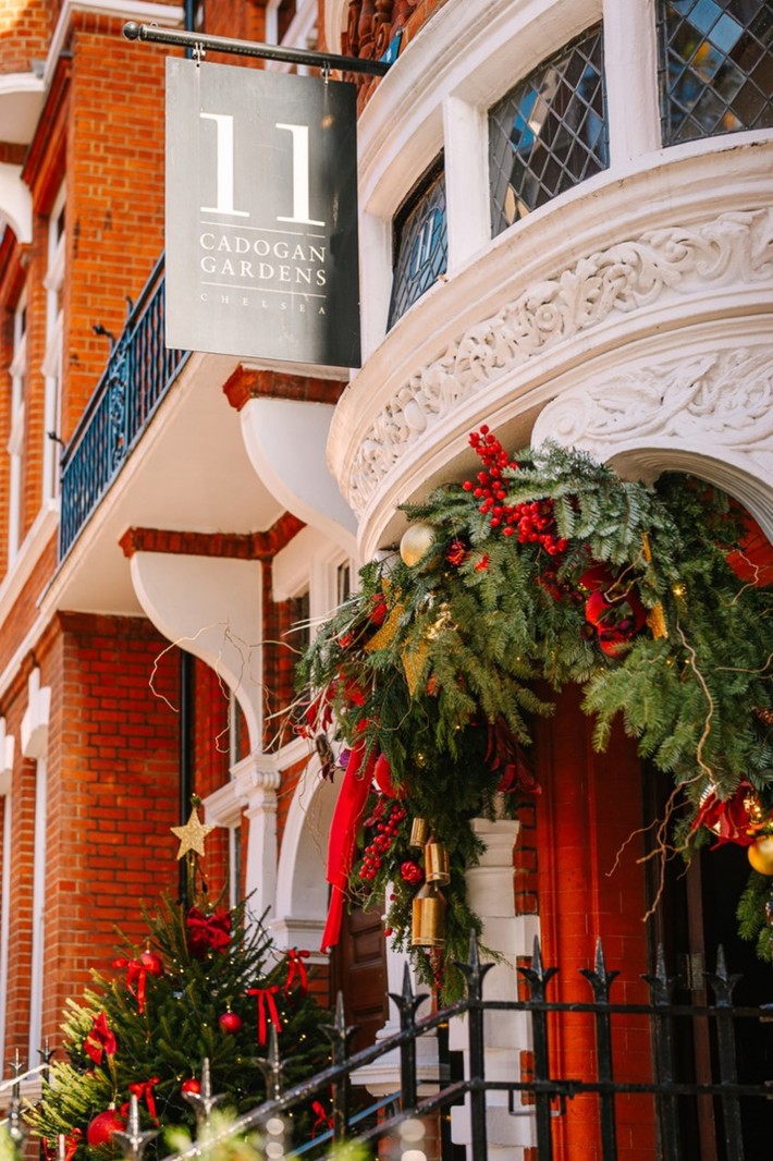
{"label": "sunlit orange brick wall left of the hanging sign, above balcony railing", "polygon": [[81,14],[67,123],[67,439],[164,247],[164,58],[124,41],[122,22]]}

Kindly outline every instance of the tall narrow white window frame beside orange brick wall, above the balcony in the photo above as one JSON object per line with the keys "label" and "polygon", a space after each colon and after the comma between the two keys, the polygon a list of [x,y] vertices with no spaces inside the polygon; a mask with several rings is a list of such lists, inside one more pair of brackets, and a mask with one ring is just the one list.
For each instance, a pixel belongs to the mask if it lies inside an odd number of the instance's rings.
{"label": "tall narrow white window frame beside orange brick wall, above the balcony", "polygon": [[55,500],[59,496],[59,460],[60,444],[52,439],[49,432],[59,437],[62,426],[62,365],[64,310],[62,307],[62,289],[65,281],[65,243],[66,230],[58,232],[59,219],[65,208],[66,188],[63,185],[56,196],[49,217],[49,262],[43,280],[46,290],[45,300],[45,358],[43,375],[45,377],[45,395],[43,404],[43,502]]}

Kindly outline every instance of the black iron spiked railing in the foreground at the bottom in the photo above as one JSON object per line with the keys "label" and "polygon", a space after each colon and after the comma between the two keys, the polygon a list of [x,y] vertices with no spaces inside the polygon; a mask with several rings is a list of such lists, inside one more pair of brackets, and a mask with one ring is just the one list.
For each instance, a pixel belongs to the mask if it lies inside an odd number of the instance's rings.
{"label": "black iron spiked railing in the foreground at the bottom", "polygon": [[[330,1030],[333,1048],[332,1066],[287,1091],[282,1091],[283,1065],[279,1055],[276,1031],[272,1027],[269,1053],[262,1062],[269,1099],[224,1127],[217,1127],[210,1120],[211,1111],[219,1098],[212,1094],[209,1062],[204,1061],[201,1093],[188,1096],[188,1099],[196,1105],[197,1141],[187,1151],[168,1158],[167,1161],[198,1161],[202,1155],[210,1154],[217,1158],[218,1145],[225,1144],[233,1137],[252,1134],[255,1131],[272,1145],[272,1148],[266,1148],[266,1156],[297,1155],[297,1152],[295,1154],[290,1152],[289,1142],[286,1151],[281,1140],[283,1118],[298,1106],[308,1109],[315,1101],[324,1102],[325,1110],[330,1110],[324,1118],[330,1124],[330,1131],[322,1133],[318,1140],[294,1142],[299,1147],[304,1159],[326,1158],[331,1148],[344,1140],[367,1145],[375,1155],[378,1142],[398,1138],[405,1131],[406,1124],[414,1125],[418,1120],[431,1118],[451,1105],[469,1102],[471,1141],[468,1142],[467,1159],[487,1161],[486,1096],[494,1093],[506,1095],[508,1102],[506,1108],[511,1113],[533,1118],[533,1140],[540,1161],[552,1161],[555,1125],[563,1117],[571,1115],[571,1102],[584,1094],[591,1094],[597,1098],[600,1147],[598,1155],[601,1161],[617,1161],[616,1102],[623,1094],[649,1095],[653,1099],[658,1124],[653,1158],[658,1161],[682,1161],[686,1156],[681,1138],[681,1115],[686,1108],[685,1102],[692,1102],[694,1105],[700,1098],[713,1101],[720,1113],[721,1127],[716,1140],[716,1155],[725,1158],[725,1161],[744,1161],[744,1137],[749,1127],[744,1118],[746,1120],[753,1118],[752,1127],[763,1126],[763,1139],[767,1141],[773,1105],[766,1102],[773,1101],[773,1076],[765,1076],[753,1083],[739,1080],[736,1031],[742,1022],[753,1022],[760,1032],[770,1033],[771,1029],[764,1025],[773,1022],[773,1004],[757,1008],[734,1005],[732,993],[739,976],[728,974],[721,950],[716,972],[706,973],[714,1003],[703,1007],[673,1003],[677,980],[666,974],[662,954],[658,957],[655,975],[644,976],[650,989],[649,1004],[612,1003],[609,991],[617,973],[607,971],[600,942],[593,968],[581,972],[591,985],[593,994],[588,1003],[548,1001],[548,985],[556,974],[556,968],[543,967],[537,940],[534,944],[530,966],[520,968],[529,993],[527,1000],[511,1002],[483,998],[483,981],[491,965],[479,962],[474,942],[469,962],[460,966],[467,978],[467,998],[419,1021],[417,1009],[426,997],[413,994],[406,968],[403,991],[391,996],[399,1011],[399,1032],[353,1055],[349,1055],[348,1043],[354,1029],[346,1026],[344,1004],[339,994],[334,1024]],[[534,1058],[532,1075],[521,1074],[519,1070],[518,1075],[506,1080],[490,1080],[486,1076],[484,1017],[486,1014],[498,1012],[525,1012],[528,1016]],[[578,1014],[590,1017],[594,1029],[593,1043],[590,1046],[594,1051],[588,1052],[588,1060],[597,1061],[595,1075],[583,1077],[552,1075],[551,1030],[555,1030],[557,1024],[564,1026],[564,1022]],[[420,1082],[422,1095],[420,1095],[417,1041],[422,1036],[442,1032],[454,1017],[464,1017],[467,1024],[464,1076],[461,1080],[453,1079],[454,1069],[449,1067],[448,1060],[443,1060],[441,1051],[436,1076],[431,1082],[422,1076]],[[653,1045],[651,1080],[642,1082],[617,1079],[619,1067],[624,1072],[627,1063],[624,1057],[622,1061],[613,1058],[612,1029],[617,1017],[627,1022],[626,1026],[629,1026],[631,1017],[643,1018],[646,1022]],[[684,1041],[686,1031],[692,1031],[692,1025],[696,1021],[709,1023],[714,1032],[715,1048],[710,1061],[711,1076],[700,1082],[682,1079],[684,1068],[678,1063],[680,1047],[678,1041]],[[442,1044],[445,1037],[441,1034],[438,1039]],[[361,1113],[351,1115],[349,1083],[353,1073],[386,1053],[397,1053],[399,1057],[399,1099],[389,1098],[382,1102],[378,1123],[373,1124],[373,1117],[362,1119]],[[764,1054],[764,1059],[770,1061],[770,1053]],[[519,1094],[523,1103],[516,1106]],[[16,1130],[15,1139],[21,1141],[17,1109],[12,1108],[10,1122]],[[280,1139],[276,1138],[277,1133]],[[273,1142],[272,1134],[274,1134]],[[158,1134],[152,1131],[140,1131],[137,1099],[132,1097],[127,1132],[116,1134],[127,1161],[142,1161],[147,1141],[156,1135]],[[450,1148],[448,1144],[449,1156]],[[402,1152],[398,1147],[390,1155],[416,1158],[417,1153],[409,1145],[405,1151]],[[752,1154],[750,1151],[749,1155],[751,1159],[759,1153]],[[262,1156],[262,1153],[257,1152],[255,1161]],[[443,1161],[446,1161],[446,1149],[443,1149]]]}

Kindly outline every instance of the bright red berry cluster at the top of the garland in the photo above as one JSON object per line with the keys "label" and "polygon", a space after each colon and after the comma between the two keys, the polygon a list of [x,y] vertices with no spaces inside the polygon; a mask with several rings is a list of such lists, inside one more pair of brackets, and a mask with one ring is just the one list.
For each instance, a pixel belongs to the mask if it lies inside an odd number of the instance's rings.
{"label": "bright red berry cluster at the top of the garland", "polygon": [[520,545],[542,545],[550,556],[566,549],[566,541],[556,536],[552,500],[534,500],[529,504],[505,504],[507,491],[503,473],[518,468],[515,460],[507,456],[504,447],[484,424],[479,432],[470,435],[470,446],[483,462],[483,471],[475,479],[465,479],[462,488],[481,500],[478,511],[490,515],[492,528],[501,528],[505,536],[518,536]]}

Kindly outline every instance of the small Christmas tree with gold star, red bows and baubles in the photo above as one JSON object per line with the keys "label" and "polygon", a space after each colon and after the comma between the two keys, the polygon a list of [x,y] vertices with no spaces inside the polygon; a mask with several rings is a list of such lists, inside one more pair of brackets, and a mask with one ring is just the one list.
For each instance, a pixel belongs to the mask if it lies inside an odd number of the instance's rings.
{"label": "small Christmas tree with gold star, red bows and baubles", "polygon": [[[124,945],[114,972],[94,972],[80,1002],[67,1001],[63,1024],[68,1059],[52,1065],[39,1105],[29,1113],[46,1155],[104,1161],[116,1153],[113,1132],[124,1127],[131,1094],[145,1130],[193,1130],[187,1094],[197,1093],[204,1059],[211,1090],[236,1112],[266,1097],[260,1061],[268,1054],[272,1025],[279,1034],[284,1083],[308,1079],[330,1062],[324,1025],[330,1016],[308,993],[304,958],[277,952],[246,906],[217,908],[196,892],[202,827],[195,809],[186,828],[174,828],[188,867],[193,906],[164,897],[147,915],[145,946]],[[189,845],[186,846],[186,843]],[[313,1115],[309,1115],[310,1118]],[[304,1131],[296,1113],[296,1138]],[[164,1135],[149,1156],[165,1153]]]}

